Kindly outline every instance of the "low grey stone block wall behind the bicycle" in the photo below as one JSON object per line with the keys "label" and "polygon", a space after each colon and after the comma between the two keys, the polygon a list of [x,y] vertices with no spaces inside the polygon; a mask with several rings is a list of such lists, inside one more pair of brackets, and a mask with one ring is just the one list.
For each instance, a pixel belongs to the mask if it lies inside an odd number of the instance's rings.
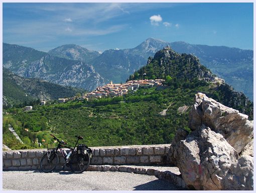
{"label": "low grey stone block wall behind the bicycle", "polygon": [[[91,165],[167,165],[171,144],[91,147]],[[3,170],[37,170],[47,149],[3,151]],[[66,149],[68,152],[68,149]],[[60,169],[65,163],[61,153]]]}

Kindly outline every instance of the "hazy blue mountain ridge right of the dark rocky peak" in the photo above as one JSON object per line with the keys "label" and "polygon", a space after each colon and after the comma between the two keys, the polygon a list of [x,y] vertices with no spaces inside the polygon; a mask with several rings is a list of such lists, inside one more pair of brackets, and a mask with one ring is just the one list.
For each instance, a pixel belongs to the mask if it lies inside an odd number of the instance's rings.
{"label": "hazy blue mountain ridge right of the dark rocky peak", "polygon": [[170,43],[176,52],[193,54],[218,77],[253,100],[253,51],[225,46]]}

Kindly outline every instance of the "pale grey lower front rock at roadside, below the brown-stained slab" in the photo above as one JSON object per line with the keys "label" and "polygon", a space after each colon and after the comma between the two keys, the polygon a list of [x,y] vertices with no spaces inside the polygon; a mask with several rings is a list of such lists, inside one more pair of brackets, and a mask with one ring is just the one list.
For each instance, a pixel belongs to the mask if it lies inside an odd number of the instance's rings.
{"label": "pale grey lower front rock at roadside, below the brown-stained slab", "polygon": [[[248,151],[246,151],[248,152]],[[202,125],[180,140],[172,156],[188,187],[197,190],[253,190],[253,157]]]}

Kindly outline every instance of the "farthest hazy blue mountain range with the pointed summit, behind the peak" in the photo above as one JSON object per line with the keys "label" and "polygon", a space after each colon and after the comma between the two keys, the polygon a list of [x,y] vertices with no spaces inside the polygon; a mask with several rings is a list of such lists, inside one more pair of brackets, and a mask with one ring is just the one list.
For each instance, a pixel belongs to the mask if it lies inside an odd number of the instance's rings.
{"label": "farthest hazy blue mountain range with the pointed summit, behind the peak", "polygon": [[[94,66],[106,81],[125,82],[126,79],[147,64],[147,59],[153,57],[158,50],[171,46],[178,53],[197,56],[201,63],[218,77],[232,85],[237,91],[242,91],[253,100],[253,51],[229,48],[224,46],[192,45],[185,42],[165,42],[149,38],[135,48],[123,50],[106,50],[101,55],[90,55],[75,45],[62,46],[61,51],[55,50],[56,56],[67,58],[72,53],[83,62]],[[67,48],[66,48],[67,47]],[[64,49],[66,48],[66,49]],[[87,50],[87,49],[86,49]],[[49,53],[52,53],[50,51]],[[96,53],[95,51],[91,51]],[[63,54],[64,53],[64,54]],[[65,54],[67,53],[67,54]],[[68,57],[75,59],[74,57]],[[90,58],[88,60],[87,58]]]}

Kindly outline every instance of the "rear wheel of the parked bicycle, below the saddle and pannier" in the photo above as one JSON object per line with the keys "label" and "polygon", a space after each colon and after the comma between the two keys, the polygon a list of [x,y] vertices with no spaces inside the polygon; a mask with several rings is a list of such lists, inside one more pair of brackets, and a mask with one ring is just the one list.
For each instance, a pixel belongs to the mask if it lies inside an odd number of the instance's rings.
{"label": "rear wheel of the parked bicycle, below the saddle and pannier", "polygon": [[85,155],[77,154],[75,152],[69,162],[70,168],[74,173],[82,173],[89,167],[90,161],[91,158],[88,152]]}

